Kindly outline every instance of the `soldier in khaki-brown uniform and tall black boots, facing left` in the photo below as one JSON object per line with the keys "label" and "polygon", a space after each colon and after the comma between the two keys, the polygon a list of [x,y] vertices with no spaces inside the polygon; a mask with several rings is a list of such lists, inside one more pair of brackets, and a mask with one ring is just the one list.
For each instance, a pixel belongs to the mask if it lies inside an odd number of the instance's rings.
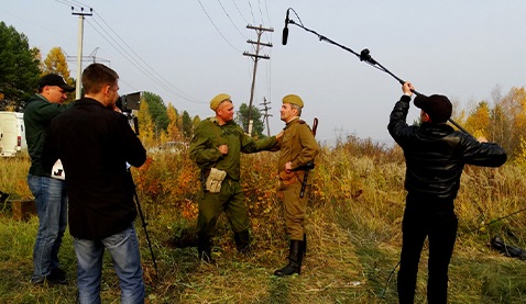
{"label": "soldier in khaki-brown uniform and tall black boots, facing left", "polygon": [[303,106],[304,102],[298,95],[289,94],[283,98],[280,111],[281,120],[286,126],[283,138],[278,142],[281,154],[277,171],[283,192],[285,223],[291,239],[288,264],[274,272],[280,277],[300,273],[302,260],[307,248],[305,234],[307,196],[300,198],[300,192],[305,168],[307,164],[314,164],[319,146],[310,127],[299,119]]}

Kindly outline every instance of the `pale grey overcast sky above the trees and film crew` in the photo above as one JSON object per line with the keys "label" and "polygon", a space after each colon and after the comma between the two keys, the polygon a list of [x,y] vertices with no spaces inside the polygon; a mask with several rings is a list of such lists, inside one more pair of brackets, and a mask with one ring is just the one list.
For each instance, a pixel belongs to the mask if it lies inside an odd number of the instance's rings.
{"label": "pale grey overcast sky above the trees and film crew", "polygon": [[[253,104],[270,102],[271,133],[283,127],[282,98],[298,94],[303,117],[318,117],[318,139],[333,143],[355,135],[388,142],[386,125],[401,85],[360,61],[352,53],[289,24],[282,45],[287,8],[291,19],[395,76],[425,94],[441,93],[468,109],[526,83],[526,1],[351,1],[351,0],[2,0],[0,20],[28,36],[45,57],[59,46],[76,77],[79,18],[84,56],[120,75],[120,93],[150,91],[190,116],[212,115],[209,100],[229,93],[234,105],[249,103],[257,41],[248,24],[273,29],[261,35]],[[1,58],[0,58],[1,59]],[[85,68],[89,61],[83,64]],[[418,116],[412,106],[408,122]],[[266,132],[266,131],[265,131]]]}

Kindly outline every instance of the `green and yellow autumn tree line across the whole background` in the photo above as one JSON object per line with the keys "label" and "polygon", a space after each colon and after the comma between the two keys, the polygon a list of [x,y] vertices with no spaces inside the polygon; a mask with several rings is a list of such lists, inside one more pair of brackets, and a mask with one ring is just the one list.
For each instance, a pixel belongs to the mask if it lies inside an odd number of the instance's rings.
{"label": "green and yellow autumn tree line across the whole background", "polygon": [[[28,37],[13,26],[0,22],[0,111],[23,111],[24,100],[35,92],[42,75],[55,72],[62,75],[68,83],[75,86],[70,77],[66,56],[59,47],[50,50],[45,59],[39,48],[30,47]],[[68,101],[74,100],[70,93]],[[526,91],[525,88],[512,88],[503,94],[492,91],[492,100],[475,102],[471,109],[453,113],[456,122],[463,125],[474,137],[486,137],[500,143],[512,158],[524,158],[526,164]],[[456,102],[457,105],[459,102]],[[253,136],[264,137],[264,122],[259,109],[250,109],[254,121]],[[142,92],[141,110],[136,113],[140,136],[145,145],[157,145],[171,140],[187,142],[193,136],[199,116],[191,117],[187,111],[178,111],[173,103],[166,103],[152,92]],[[249,106],[241,104],[235,122],[246,130]]]}

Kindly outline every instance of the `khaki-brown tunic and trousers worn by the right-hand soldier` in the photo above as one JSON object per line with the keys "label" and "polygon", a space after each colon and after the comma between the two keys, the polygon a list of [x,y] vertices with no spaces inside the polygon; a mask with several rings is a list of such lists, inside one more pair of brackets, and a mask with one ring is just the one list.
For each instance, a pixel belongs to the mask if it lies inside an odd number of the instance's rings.
{"label": "khaki-brown tunic and trousers worn by the right-hand soldier", "polygon": [[[299,198],[305,171],[296,170],[319,154],[319,146],[310,127],[299,117],[289,121],[278,145],[281,149],[277,171],[283,191],[285,223],[291,239],[303,240],[305,234],[305,217],[307,213],[307,195]],[[285,171],[285,164],[291,161],[292,172]],[[310,176],[309,176],[310,178]]]}

